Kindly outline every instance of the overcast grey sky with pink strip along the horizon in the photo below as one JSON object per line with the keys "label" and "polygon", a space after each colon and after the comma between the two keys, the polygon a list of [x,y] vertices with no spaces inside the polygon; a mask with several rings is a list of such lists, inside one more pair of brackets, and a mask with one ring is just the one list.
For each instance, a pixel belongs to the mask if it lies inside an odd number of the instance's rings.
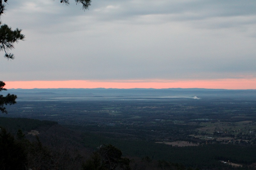
{"label": "overcast grey sky with pink strip along the horizon", "polygon": [[256,89],[254,0],[69,1],[8,1],[6,88]]}

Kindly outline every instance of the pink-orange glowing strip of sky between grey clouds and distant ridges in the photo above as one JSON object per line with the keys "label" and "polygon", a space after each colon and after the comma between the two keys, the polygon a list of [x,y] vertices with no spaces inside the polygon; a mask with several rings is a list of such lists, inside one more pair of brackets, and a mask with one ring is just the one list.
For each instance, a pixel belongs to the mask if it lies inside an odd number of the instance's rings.
{"label": "pink-orange glowing strip of sky between grey clouds and distant ridges", "polygon": [[256,78],[212,80],[114,80],[114,81],[5,81],[7,89],[33,88],[207,88],[207,89],[256,89]]}

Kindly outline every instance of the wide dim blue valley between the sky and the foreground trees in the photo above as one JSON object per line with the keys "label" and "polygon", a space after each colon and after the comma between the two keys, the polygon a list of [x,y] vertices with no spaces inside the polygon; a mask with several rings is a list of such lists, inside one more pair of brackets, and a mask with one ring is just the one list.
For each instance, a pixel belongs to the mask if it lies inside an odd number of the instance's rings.
{"label": "wide dim blue valley between the sky and the foreground trees", "polygon": [[58,140],[73,144],[83,160],[100,145],[112,144],[132,160],[132,169],[255,168],[256,90],[8,92],[18,99],[1,115],[1,126],[13,134],[21,129],[32,141],[38,135],[45,146],[52,146],[58,135]]}

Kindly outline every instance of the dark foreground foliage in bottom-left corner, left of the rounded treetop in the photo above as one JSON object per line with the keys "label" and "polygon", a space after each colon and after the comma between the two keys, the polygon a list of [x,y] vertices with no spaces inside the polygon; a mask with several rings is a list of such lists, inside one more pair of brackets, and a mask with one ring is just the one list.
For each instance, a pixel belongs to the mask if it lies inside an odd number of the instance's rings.
{"label": "dark foreground foliage in bottom-left corner, left of the rounded treetop", "polygon": [[[78,169],[82,157],[79,154],[70,155],[67,148],[43,146],[39,137],[30,142],[24,138],[21,130],[16,137],[0,128],[0,169]],[[15,162],[15,163],[14,163]]]}

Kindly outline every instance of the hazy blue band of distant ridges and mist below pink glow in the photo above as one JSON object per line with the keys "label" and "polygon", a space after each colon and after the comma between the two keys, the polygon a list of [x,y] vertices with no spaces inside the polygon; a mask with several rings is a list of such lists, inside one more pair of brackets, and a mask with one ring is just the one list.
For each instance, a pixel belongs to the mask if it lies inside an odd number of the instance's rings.
{"label": "hazy blue band of distant ridges and mist below pink glow", "polygon": [[204,88],[168,89],[116,89],[116,88],[57,88],[57,89],[8,89],[1,94],[12,93],[20,98],[84,98],[84,97],[141,97],[141,98],[191,98],[191,99],[234,99],[256,100],[256,90],[227,90]]}

